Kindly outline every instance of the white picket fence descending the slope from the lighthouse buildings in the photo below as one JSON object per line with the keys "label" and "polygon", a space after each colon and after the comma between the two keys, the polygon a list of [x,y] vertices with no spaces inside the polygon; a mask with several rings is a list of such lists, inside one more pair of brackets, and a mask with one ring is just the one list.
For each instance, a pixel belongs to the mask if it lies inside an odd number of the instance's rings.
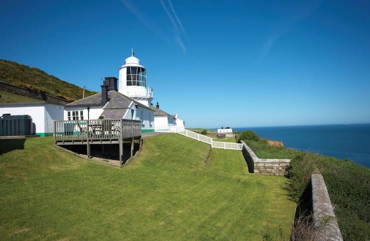
{"label": "white picket fence descending the slope from the lighthouse buildings", "polygon": [[192,132],[179,127],[155,127],[155,132],[177,133],[182,136],[186,136],[194,140],[197,140],[199,142],[207,143],[211,145],[212,148],[229,149],[237,151],[241,151],[243,149],[243,144],[230,142],[214,142],[211,137],[207,137],[196,132]]}

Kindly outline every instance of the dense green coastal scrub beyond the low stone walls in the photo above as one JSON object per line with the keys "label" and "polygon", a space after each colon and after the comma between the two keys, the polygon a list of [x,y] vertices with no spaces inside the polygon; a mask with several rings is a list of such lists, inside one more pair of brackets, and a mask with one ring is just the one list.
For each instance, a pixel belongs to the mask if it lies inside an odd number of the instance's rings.
{"label": "dense green coastal scrub beyond the low stone walls", "polygon": [[370,169],[349,160],[269,146],[267,141],[244,140],[259,158],[289,158],[289,194],[300,200],[311,174],[324,177],[344,240],[370,240]]}

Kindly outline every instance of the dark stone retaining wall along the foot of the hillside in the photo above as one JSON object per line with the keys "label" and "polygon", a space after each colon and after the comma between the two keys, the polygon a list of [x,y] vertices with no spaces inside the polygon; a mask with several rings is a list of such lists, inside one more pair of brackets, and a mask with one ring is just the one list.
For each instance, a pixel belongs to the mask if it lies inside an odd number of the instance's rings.
{"label": "dark stone retaining wall along the foot of the hillside", "polygon": [[68,104],[70,102],[68,100],[59,98],[57,96],[53,96],[53,95],[50,95],[50,94],[34,91],[34,90],[31,90],[31,89],[27,89],[27,88],[24,88],[24,87],[21,87],[21,86],[5,83],[5,82],[2,82],[2,81],[0,81],[0,90],[7,91],[7,92],[10,92],[10,93],[14,93],[14,94],[27,96],[27,97],[31,97],[31,98],[35,98],[35,99],[42,99],[42,100],[45,100],[47,102],[55,103],[55,104]]}

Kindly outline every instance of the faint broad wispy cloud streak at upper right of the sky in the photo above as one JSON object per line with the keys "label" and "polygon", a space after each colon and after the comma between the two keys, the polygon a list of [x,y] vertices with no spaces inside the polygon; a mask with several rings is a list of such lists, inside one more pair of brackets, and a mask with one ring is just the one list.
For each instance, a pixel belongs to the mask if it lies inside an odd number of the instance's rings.
{"label": "faint broad wispy cloud streak at upper right of the sky", "polygon": [[261,54],[256,60],[256,63],[261,63],[270,53],[274,44],[285,34],[292,31],[296,26],[309,15],[311,15],[321,4],[322,0],[308,0],[299,6],[290,6],[291,12],[286,14],[283,21],[275,24],[272,33],[265,40]]}

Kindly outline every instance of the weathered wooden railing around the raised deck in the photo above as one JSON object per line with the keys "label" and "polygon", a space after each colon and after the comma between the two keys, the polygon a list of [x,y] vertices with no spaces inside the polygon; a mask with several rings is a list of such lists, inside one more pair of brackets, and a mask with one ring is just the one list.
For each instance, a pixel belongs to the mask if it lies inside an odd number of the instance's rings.
{"label": "weathered wooden railing around the raised deck", "polygon": [[141,136],[140,121],[130,119],[86,119],[54,121],[54,140],[89,140]]}

